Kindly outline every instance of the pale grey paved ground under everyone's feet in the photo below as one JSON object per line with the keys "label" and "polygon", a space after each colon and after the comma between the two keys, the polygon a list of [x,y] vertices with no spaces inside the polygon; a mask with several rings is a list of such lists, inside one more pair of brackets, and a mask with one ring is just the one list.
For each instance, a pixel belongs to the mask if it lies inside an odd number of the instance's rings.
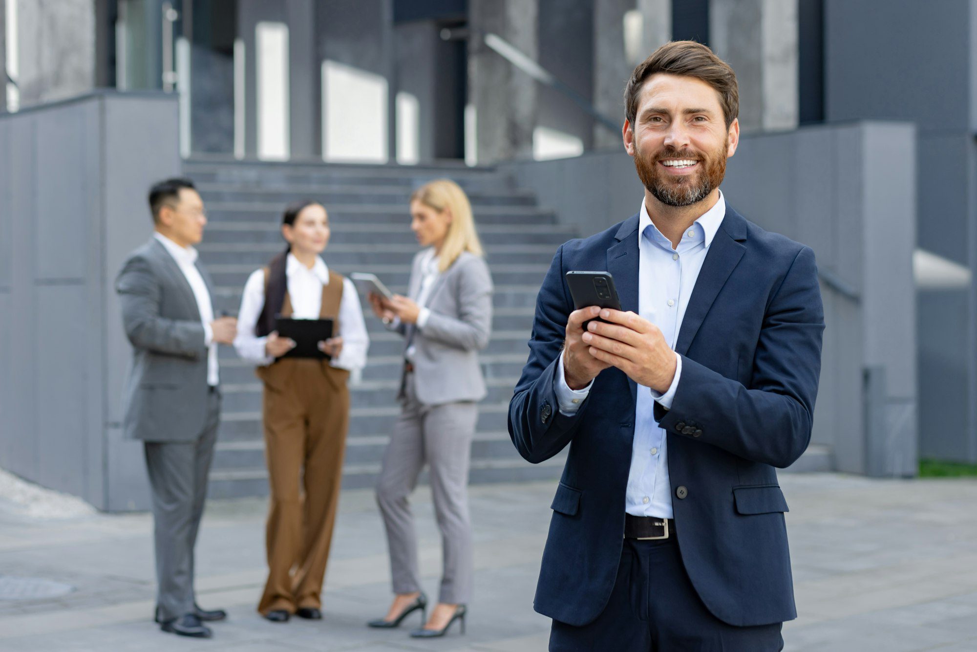
{"label": "pale grey paved ground under everyone's feet", "polygon": [[[800,612],[786,626],[786,650],[977,650],[977,482],[787,474],[782,485]],[[0,576],[75,590],[0,601],[0,650],[545,650],[549,624],[531,600],[553,489],[473,488],[477,577],[468,633],[427,642],[363,627],[389,599],[385,542],[368,492],[343,496],[319,623],[273,625],[254,612],[264,579],[264,502],[208,505],[198,545],[200,602],[229,609],[231,619],[206,641],[161,633],[149,621],[147,514],[43,518],[3,495]],[[416,505],[425,587],[433,594],[440,548],[426,489]]]}

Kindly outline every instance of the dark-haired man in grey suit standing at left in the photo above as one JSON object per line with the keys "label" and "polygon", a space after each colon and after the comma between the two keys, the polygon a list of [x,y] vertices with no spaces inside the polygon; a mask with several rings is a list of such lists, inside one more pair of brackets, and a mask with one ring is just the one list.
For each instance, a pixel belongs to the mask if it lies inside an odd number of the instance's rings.
{"label": "dark-haired man in grey suit standing at left", "polygon": [[207,223],[187,179],[149,190],[155,227],[122,264],[115,282],[133,346],[125,436],[144,442],[155,526],[156,622],[164,631],[209,637],[193,593],[193,546],[207,494],[220,422],[217,344],[231,344],[236,320],[214,318],[211,283],[193,244]]}

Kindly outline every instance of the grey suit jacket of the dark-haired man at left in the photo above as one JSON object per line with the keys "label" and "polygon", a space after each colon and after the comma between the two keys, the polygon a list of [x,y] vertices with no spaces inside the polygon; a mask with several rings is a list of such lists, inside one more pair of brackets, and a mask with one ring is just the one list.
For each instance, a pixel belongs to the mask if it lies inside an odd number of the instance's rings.
{"label": "grey suit jacket of the dark-haired man at left", "polygon": [[[196,268],[213,296],[199,261]],[[124,435],[150,442],[194,439],[207,418],[207,347],[190,283],[153,238],[122,264],[115,291],[133,346]]]}

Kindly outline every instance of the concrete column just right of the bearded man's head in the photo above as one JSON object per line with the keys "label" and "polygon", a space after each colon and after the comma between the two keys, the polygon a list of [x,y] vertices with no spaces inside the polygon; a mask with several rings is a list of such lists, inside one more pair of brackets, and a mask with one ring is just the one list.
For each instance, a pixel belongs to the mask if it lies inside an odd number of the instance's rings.
{"label": "concrete column just right of the bearded man's head", "polygon": [[736,70],[743,130],[797,126],[797,0],[710,0],[709,41]]}

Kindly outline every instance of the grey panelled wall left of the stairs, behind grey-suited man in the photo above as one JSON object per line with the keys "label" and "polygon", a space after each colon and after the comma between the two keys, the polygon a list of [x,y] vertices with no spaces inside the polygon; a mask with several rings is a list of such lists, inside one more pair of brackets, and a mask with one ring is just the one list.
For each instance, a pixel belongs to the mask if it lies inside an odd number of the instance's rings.
{"label": "grey panelled wall left of the stairs, behind grey-suited man", "polygon": [[96,94],[0,116],[0,465],[102,509],[145,508],[121,440],[130,348],[113,281],[180,171],[177,101]]}

